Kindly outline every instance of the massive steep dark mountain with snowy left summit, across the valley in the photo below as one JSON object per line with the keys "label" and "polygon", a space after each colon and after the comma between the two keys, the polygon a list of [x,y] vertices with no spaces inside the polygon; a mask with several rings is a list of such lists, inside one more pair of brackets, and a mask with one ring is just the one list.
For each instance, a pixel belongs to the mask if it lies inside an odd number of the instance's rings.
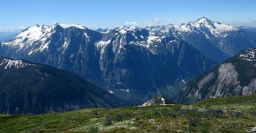
{"label": "massive steep dark mountain with snowy left summit, across the valley", "polygon": [[159,93],[174,99],[185,81],[216,65],[176,37],[137,27],[101,32],[78,24],[36,25],[3,42],[0,53],[73,71],[134,103]]}

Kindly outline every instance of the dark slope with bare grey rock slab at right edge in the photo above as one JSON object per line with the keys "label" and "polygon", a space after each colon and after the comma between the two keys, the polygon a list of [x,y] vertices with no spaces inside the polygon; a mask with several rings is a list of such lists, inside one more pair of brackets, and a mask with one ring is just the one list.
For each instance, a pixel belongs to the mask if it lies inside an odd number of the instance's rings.
{"label": "dark slope with bare grey rock slab at right edge", "polygon": [[256,49],[247,49],[212,71],[190,81],[178,95],[178,103],[207,98],[256,93]]}

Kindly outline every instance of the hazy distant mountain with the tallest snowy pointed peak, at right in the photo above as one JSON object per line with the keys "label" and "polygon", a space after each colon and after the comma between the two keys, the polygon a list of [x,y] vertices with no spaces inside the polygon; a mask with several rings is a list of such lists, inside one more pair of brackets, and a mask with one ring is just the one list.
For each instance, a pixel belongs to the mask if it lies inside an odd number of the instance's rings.
{"label": "hazy distant mountain with the tallest snowy pointed peak, at right", "polygon": [[199,18],[195,22],[180,25],[146,27],[158,34],[172,35],[183,39],[209,59],[221,63],[244,49],[254,48],[256,34],[243,27]]}

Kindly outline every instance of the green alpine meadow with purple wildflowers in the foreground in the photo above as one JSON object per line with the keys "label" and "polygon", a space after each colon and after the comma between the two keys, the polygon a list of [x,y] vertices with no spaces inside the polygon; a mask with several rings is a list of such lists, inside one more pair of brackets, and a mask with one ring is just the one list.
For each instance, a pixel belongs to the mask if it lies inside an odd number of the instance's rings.
{"label": "green alpine meadow with purple wildflowers in the foreground", "polygon": [[255,132],[256,95],[191,105],[1,115],[0,132]]}

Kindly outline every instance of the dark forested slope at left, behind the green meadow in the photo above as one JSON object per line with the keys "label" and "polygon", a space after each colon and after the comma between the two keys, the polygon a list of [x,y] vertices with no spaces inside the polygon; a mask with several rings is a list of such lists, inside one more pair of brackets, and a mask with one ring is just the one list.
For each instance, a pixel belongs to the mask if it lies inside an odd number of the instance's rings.
{"label": "dark forested slope at left, behind the green meadow", "polygon": [[0,113],[116,108],[129,102],[70,71],[0,57]]}

